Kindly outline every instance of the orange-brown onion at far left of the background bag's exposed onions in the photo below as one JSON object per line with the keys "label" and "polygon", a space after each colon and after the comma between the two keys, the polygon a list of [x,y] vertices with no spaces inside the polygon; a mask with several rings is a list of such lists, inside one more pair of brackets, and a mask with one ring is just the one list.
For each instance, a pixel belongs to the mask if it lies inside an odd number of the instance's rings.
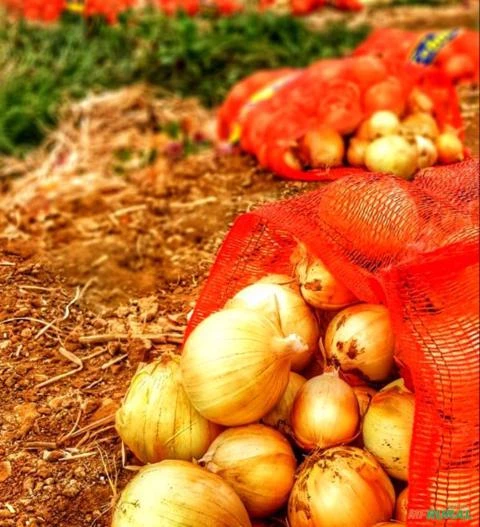
{"label": "orange-brown onion at far left of the background bag's exposed onions", "polygon": [[299,141],[298,158],[304,167],[340,166],[344,153],[343,138],[333,128],[309,130]]}

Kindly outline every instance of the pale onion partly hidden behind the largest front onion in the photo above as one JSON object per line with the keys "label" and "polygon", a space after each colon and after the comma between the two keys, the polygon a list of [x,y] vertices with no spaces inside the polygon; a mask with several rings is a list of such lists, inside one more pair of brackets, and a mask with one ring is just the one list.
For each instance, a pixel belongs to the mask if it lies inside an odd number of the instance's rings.
{"label": "pale onion partly hidden behind the largest front onion", "polygon": [[292,356],[292,370],[302,370],[318,347],[319,330],[315,315],[302,296],[289,287],[255,283],[239,291],[225,308],[253,309],[278,322],[282,333],[295,333],[307,345],[304,353]]}

